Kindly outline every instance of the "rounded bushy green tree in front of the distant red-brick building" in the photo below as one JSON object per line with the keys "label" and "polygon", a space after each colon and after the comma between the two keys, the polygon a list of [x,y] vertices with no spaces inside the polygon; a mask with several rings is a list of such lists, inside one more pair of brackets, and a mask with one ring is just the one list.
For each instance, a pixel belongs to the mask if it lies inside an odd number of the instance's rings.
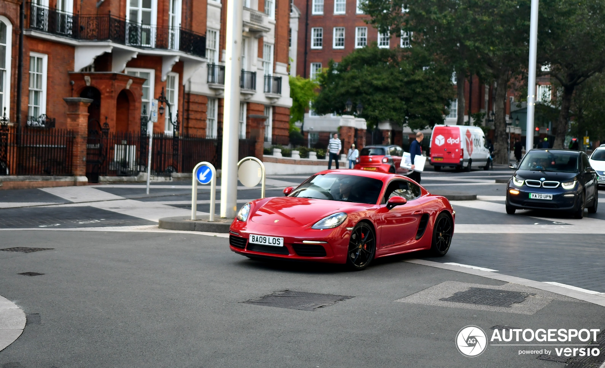
{"label": "rounded bushy green tree in front of the distant red-brick building", "polygon": [[[353,51],[319,76],[313,102],[319,114],[347,114],[345,105],[364,106],[370,127],[381,121],[424,129],[443,122],[454,97],[451,73],[422,48],[385,49],[376,44]],[[348,113],[350,114],[350,113]]]}

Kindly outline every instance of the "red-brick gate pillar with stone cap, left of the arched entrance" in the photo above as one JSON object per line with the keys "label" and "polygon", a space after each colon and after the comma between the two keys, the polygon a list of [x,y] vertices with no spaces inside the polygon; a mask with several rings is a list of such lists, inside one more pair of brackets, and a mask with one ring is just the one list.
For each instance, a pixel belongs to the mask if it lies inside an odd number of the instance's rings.
{"label": "red-brick gate pillar with stone cap, left of the arched entrance", "polygon": [[88,106],[91,98],[65,97],[67,103],[67,129],[74,132],[74,144],[71,163],[76,184],[88,182],[86,178],[86,141],[88,136]]}

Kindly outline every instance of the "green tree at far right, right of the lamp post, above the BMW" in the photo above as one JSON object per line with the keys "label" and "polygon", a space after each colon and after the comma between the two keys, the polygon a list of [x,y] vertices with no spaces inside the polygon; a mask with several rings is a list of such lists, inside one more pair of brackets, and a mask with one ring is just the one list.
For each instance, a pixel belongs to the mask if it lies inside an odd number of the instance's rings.
{"label": "green tree at far right, right of the lamp post, above the BMW", "polygon": [[605,2],[546,0],[540,4],[538,42],[538,63],[549,66],[541,73],[561,86],[554,142],[560,149],[569,129],[574,90],[605,68]]}

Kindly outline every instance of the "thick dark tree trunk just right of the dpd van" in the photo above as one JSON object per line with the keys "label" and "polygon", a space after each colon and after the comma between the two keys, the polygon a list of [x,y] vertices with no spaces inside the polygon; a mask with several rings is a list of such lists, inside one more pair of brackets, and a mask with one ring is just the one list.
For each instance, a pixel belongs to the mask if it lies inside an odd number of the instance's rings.
{"label": "thick dark tree trunk just right of the dpd van", "polygon": [[500,69],[494,100],[494,163],[508,165],[508,136],[506,135],[506,84],[509,69]]}

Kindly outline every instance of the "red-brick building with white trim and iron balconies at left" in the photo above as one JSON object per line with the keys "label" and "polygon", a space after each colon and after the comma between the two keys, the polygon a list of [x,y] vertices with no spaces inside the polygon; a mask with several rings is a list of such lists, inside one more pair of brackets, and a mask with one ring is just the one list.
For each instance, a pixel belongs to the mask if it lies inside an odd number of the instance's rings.
{"label": "red-brick building with white trim and iron balconies at left", "polygon": [[[40,115],[67,127],[64,97],[92,98],[89,119],[110,132],[140,130],[140,115],[162,89],[172,105],[154,124],[172,132],[217,136],[222,124],[226,1],[34,0],[24,4],[21,101],[18,0],[0,0],[0,108],[11,124]],[[240,136],[288,140],[287,0],[244,4],[245,73]],[[3,53],[3,54],[2,54]],[[244,83],[245,82],[245,83]],[[19,114],[20,112],[20,114]],[[266,117],[266,118],[265,118]],[[263,127],[263,128],[264,128]]]}

